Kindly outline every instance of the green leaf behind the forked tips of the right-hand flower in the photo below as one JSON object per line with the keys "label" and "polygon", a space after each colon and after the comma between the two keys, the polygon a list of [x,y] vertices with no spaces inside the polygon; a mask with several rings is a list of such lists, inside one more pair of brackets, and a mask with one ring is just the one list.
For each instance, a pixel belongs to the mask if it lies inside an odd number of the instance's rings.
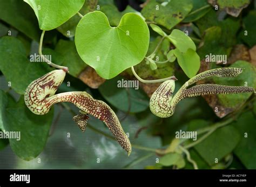
{"label": "green leaf behind the forked tips of the right-hand flower", "polygon": [[[256,69],[247,61],[236,61],[230,67],[240,67],[244,70],[242,73],[235,78],[213,78],[215,84],[218,85],[229,85],[229,86],[250,86],[256,88]],[[218,94],[217,97],[224,107],[227,108],[238,108],[245,101],[250,98],[253,93],[242,93],[242,94]]]}

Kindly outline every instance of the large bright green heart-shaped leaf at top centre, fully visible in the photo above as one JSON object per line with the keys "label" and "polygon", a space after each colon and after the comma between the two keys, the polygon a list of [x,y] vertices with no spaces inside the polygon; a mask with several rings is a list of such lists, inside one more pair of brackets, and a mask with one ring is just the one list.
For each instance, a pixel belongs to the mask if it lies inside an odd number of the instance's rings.
{"label": "large bright green heart-shaped leaf at top centre, fully visible", "polygon": [[111,27],[103,12],[87,13],[78,23],[75,43],[79,56],[105,79],[137,65],[149,47],[149,28],[136,13],[126,13]]}

